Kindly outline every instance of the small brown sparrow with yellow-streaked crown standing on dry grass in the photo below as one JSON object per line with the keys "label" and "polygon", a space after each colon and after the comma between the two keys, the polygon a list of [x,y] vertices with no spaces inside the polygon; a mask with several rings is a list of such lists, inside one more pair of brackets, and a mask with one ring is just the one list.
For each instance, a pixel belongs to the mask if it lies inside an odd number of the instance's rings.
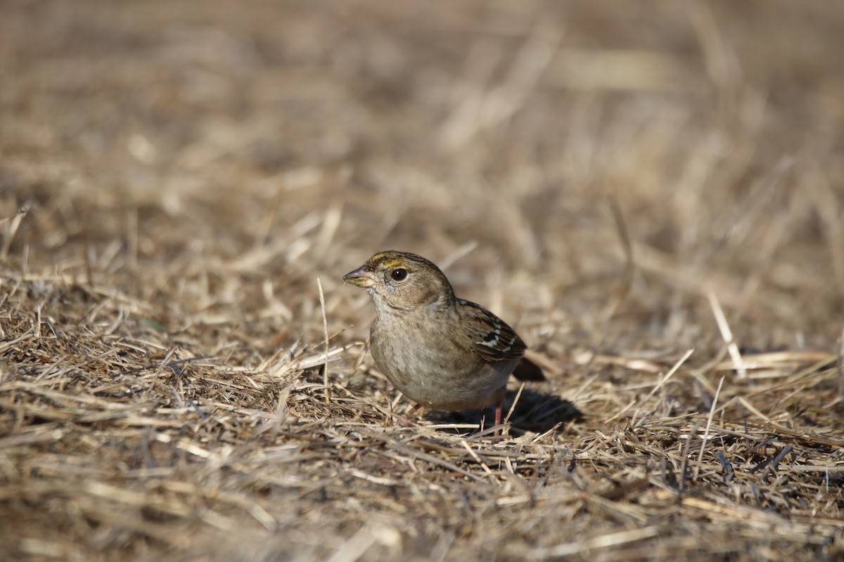
{"label": "small brown sparrow with yellow-streaked crown standing on dry grass", "polygon": [[[433,409],[482,408],[501,400],[513,373],[544,380],[523,359],[526,345],[489,310],[454,296],[451,283],[429,260],[381,252],[343,277],[375,303],[371,351],[378,368],[417,405]],[[496,432],[497,434],[497,432]]]}

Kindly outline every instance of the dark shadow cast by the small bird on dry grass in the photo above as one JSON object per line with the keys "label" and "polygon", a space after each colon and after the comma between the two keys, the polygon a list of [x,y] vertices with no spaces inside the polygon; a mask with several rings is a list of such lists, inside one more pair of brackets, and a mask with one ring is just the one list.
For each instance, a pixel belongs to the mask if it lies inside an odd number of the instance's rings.
{"label": "dark shadow cast by the small bird on dry grass", "polygon": [[[506,417],[507,413],[513,407],[513,402],[517,397],[517,391],[508,391],[504,399],[503,415]],[[546,431],[555,430],[555,433],[563,431],[565,426],[572,421],[582,420],[583,414],[577,409],[575,404],[568,400],[560,399],[559,396],[548,393],[538,393],[530,388],[522,389],[522,394],[518,397],[516,407],[510,415],[510,433],[513,436],[520,436],[531,431],[533,433],[544,433]],[[447,412],[442,410],[429,410],[425,414],[425,419],[433,421],[436,424],[455,424],[455,425],[477,425],[482,423],[485,427],[490,427],[495,422],[495,406],[490,406],[484,409],[466,409],[456,412]],[[458,431],[461,433],[473,433],[476,430],[462,431],[458,429],[443,429],[442,431]]]}

